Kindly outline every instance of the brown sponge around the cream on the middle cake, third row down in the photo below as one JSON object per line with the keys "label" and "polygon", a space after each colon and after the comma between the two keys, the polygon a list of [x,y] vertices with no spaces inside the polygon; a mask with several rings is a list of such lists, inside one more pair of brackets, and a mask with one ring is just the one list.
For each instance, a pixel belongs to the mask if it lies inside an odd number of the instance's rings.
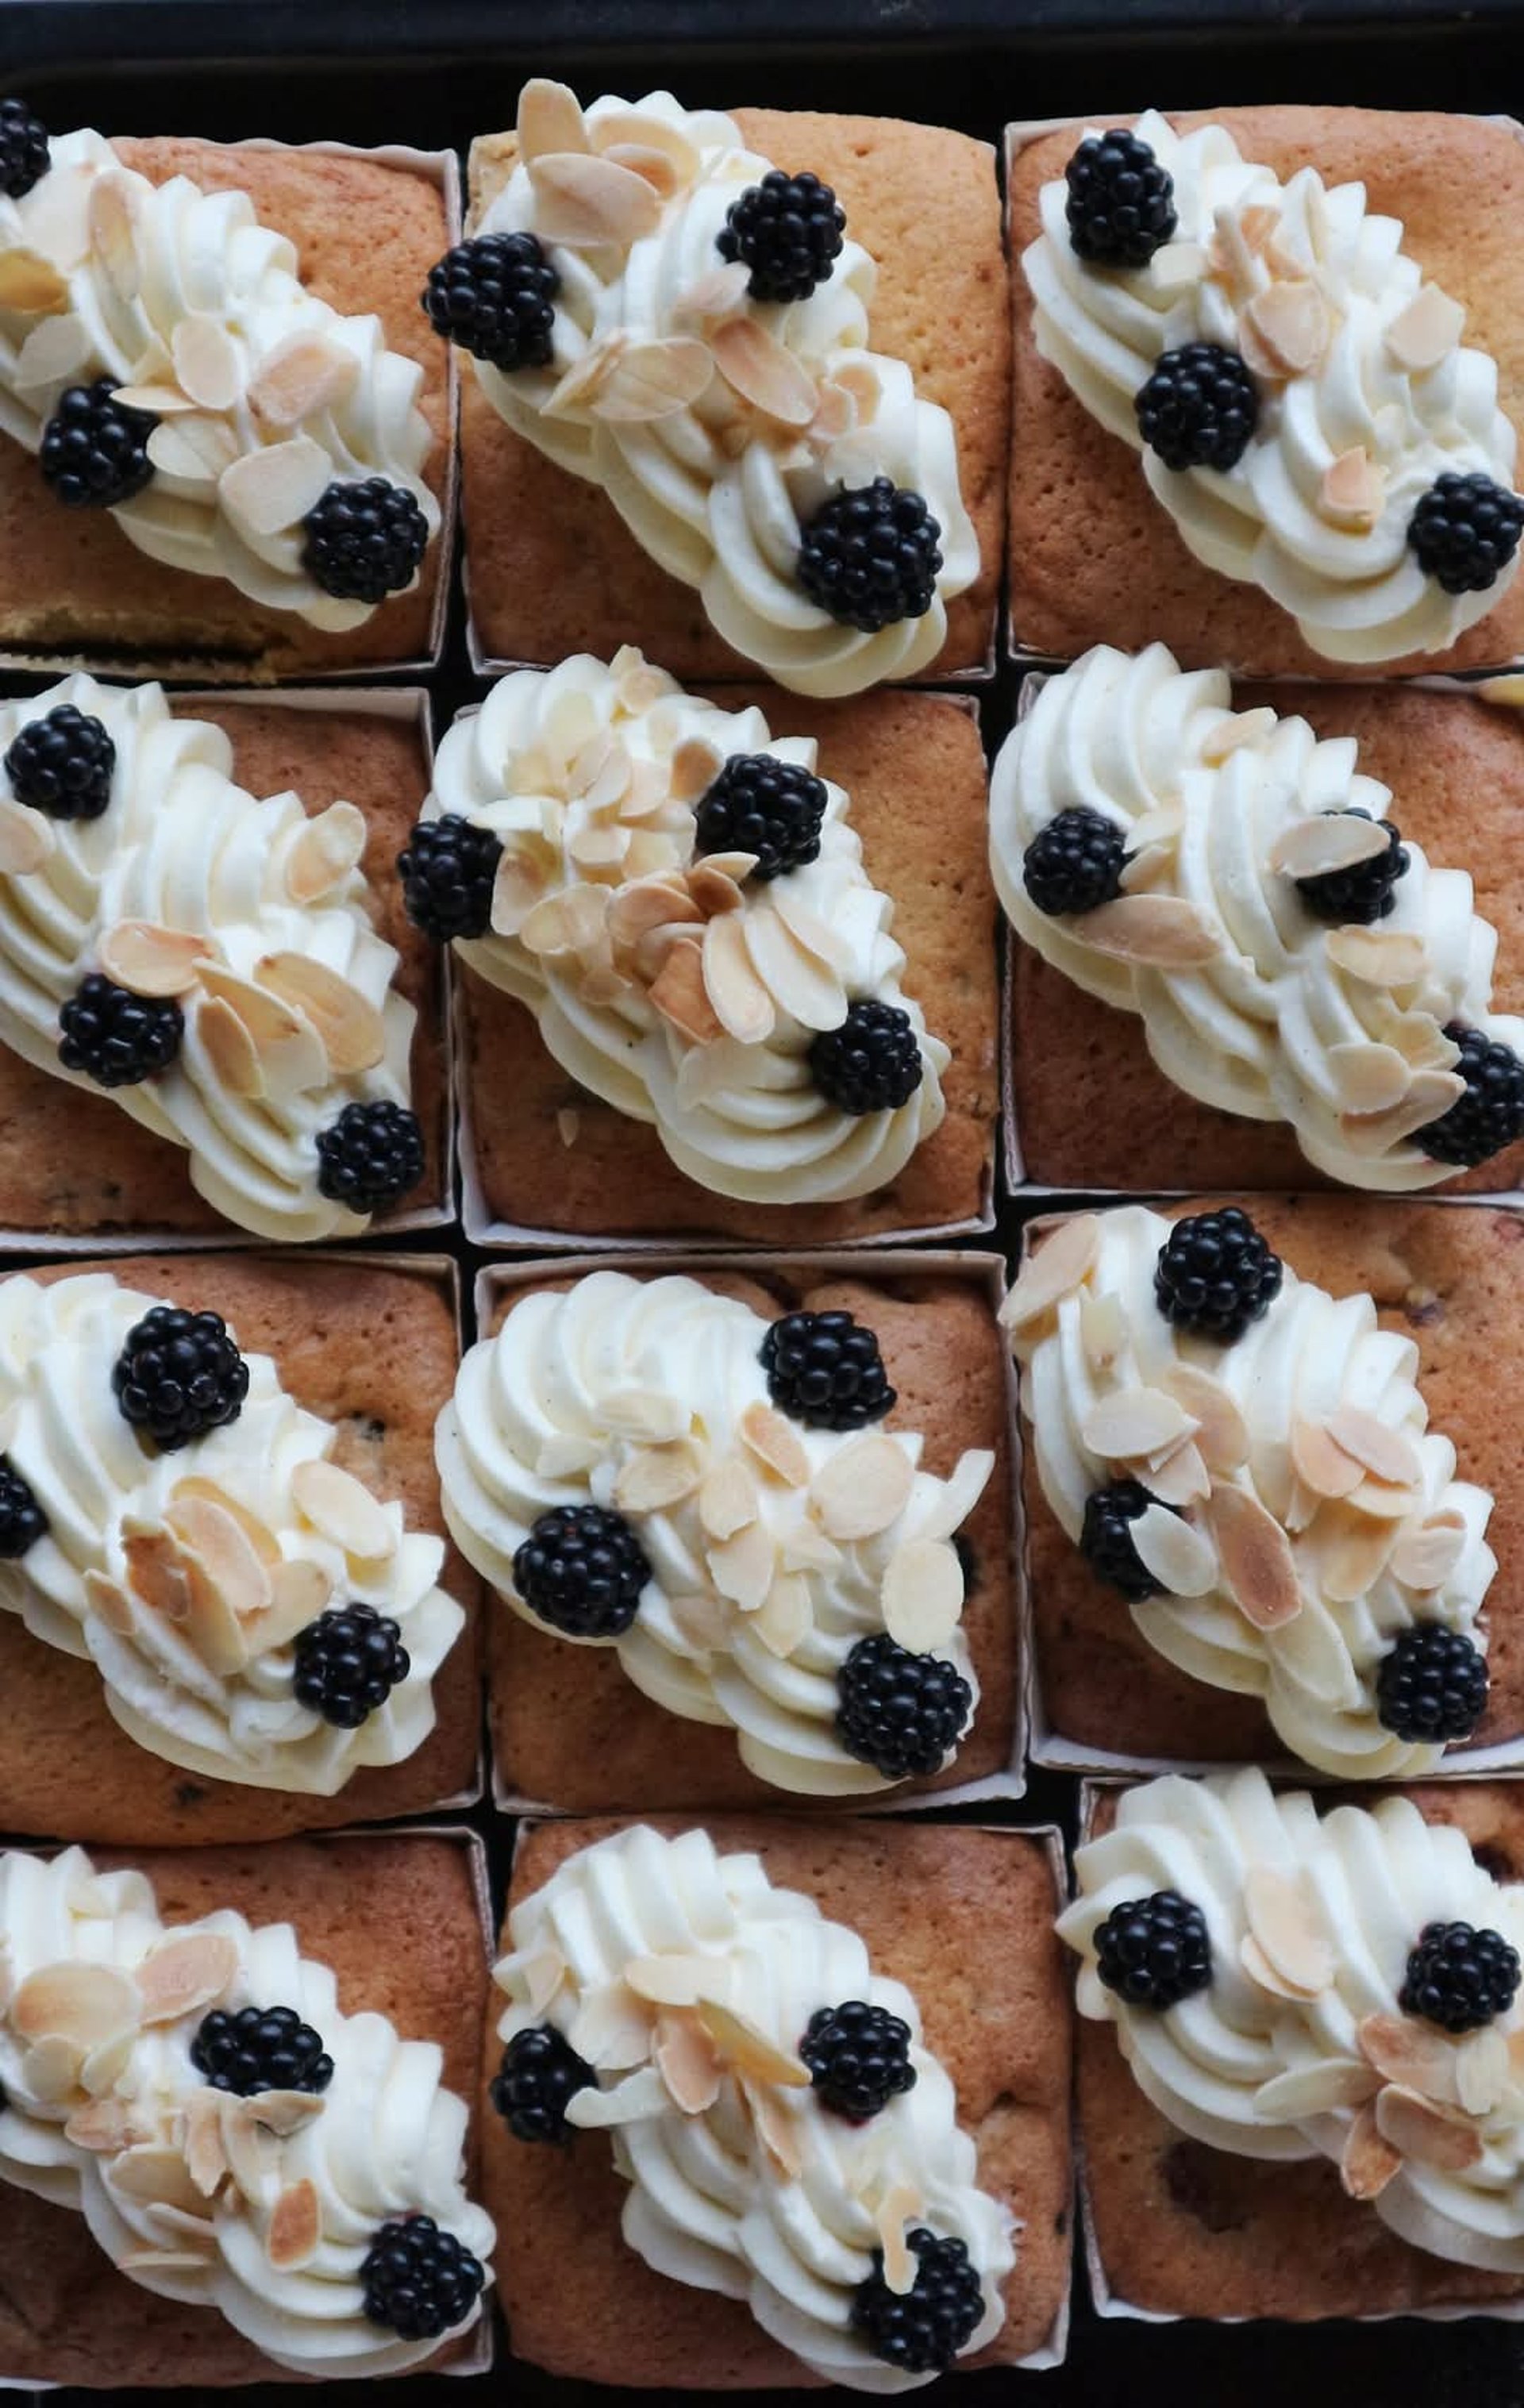
{"label": "brown sponge around the cream on the middle cake, third row down", "polygon": [[[640,1264],[621,1264],[640,1276]],[[869,1281],[790,1279],[790,1269],[766,1281],[705,1271],[689,1276],[705,1288],[742,1296],[756,1312],[855,1312],[879,1334],[884,1365],[898,1404],[884,1423],[920,1430],[925,1466],[949,1476],[965,1447],[992,1447],[990,1486],[963,1524],[973,1548],[973,1584],[963,1630],[980,1678],[980,1705],[970,1736],[953,1765],[932,1780],[905,1782],[905,1792],[946,1789],[953,1782],[1004,1772],[1016,1719],[1016,1616],[1011,1604],[1011,1466],[1006,1438],[1004,1341],[990,1300],[975,1281],[958,1276],[896,1276],[884,1269]],[[534,1281],[566,1288],[566,1279]],[[513,1291],[513,1298],[522,1296]],[[491,1327],[501,1327],[501,1308]],[[826,1799],[802,1799],[775,1789],[746,1770],[737,1734],[705,1722],[684,1722],[645,1698],[624,1674],[612,1647],[568,1647],[551,1630],[530,1625],[513,1606],[486,1592],[489,1628],[489,1724],[498,1782],[518,1796],[563,1813],[643,1811],[645,1806],[802,1806],[831,1813]],[[893,1792],[896,1796],[900,1789]]]}

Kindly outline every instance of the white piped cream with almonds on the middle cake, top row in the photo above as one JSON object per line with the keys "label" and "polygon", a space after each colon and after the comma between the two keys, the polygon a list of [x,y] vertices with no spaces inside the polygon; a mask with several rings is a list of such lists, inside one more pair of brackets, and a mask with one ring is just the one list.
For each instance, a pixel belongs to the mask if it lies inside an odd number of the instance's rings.
{"label": "white piped cream with almonds on the middle cake, top row", "polygon": [[[508,426],[599,484],[737,653],[797,694],[860,694],[937,660],[977,537],[953,421],[869,349],[876,267],[850,229],[804,301],[754,301],[746,265],[720,258],[729,205],[770,164],[734,118],[669,92],[583,111],[563,84],[525,84],[518,164],[477,231],[542,241],[561,277],[554,356],[474,366]],[[922,494],[941,571],[922,619],[862,633],[807,597],[797,556],[814,510],[874,477]]]}

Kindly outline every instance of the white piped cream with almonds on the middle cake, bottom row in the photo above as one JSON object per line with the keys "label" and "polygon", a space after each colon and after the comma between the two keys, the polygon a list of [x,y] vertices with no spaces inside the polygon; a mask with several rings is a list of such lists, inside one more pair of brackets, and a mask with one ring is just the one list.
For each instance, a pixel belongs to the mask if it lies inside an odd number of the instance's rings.
{"label": "white piped cream with almonds on the middle cake, bottom row", "polygon": [[[1004,2206],[977,2189],[946,2068],[908,1989],[872,1972],[857,1931],[775,1890],[758,1857],[720,1857],[703,1830],[638,1825],[568,1857],[508,1919],[498,2030],[549,2023],[599,2076],[566,2109],[609,2131],[628,2182],[624,2239],[657,2273],[744,2300],[773,2341],[852,2391],[910,2391],[852,2331],[852,2297],[884,2251],[908,2292],[905,2235],[961,2239],[985,2314],[970,2355],[1004,2324],[1016,2249]],[[910,2025],[915,2088],[869,2124],[828,2114],[797,2056],[819,2006],[864,1999]]]}

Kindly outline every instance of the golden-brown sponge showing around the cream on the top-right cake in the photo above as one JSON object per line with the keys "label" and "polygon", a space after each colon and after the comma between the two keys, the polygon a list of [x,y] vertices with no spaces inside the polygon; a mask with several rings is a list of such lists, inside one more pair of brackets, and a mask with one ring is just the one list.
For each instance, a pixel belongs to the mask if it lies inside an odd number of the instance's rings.
{"label": "golden-brown sponge showing around the cream on the top-right cake", "polygon": [[[1105,118],[1105,125],[1134,123]],[[1464,340],[1498,361],[1500,407],[1524,426],[1524,142],[1512,123],[1406,108],[1216,108],[1170,113],[1170,123],[1182,132],[1225,125],[1247,159],[1278,176],[1312,161],[1327,183],[1363,183],[1375,212],[1404,222],[1404,250],[1466,306]],[[1257,585],[1204,568],[1148,494],[1136,453],[1038,356],[1021,255],[1038,236],[1038,193],[1064,173],[1081,130],[1038,137],[1011,166],[1016,641],[1059,660],[1093,643],[1139,650],[1160,641],[1187,667],[1230,662],[1257,677],[1370,677],[1310,650],[1295,619]],[[1382,662],[1382,674],[1473,669],[1522,650],[1524,583],[1514,583],[1449,653]]]}

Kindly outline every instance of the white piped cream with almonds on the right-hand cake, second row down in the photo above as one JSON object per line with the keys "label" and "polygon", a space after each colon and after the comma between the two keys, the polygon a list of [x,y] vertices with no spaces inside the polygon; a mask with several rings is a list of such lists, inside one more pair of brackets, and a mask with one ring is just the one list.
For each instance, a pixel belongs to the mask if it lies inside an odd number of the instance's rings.
{"label": "white piped cream with almonds on the right-hand cake, second row down", "polygon": [[[1122,828],[1122,893],[1050,917],[1023,857],[1069,809]],[[1420,1132],[1464,1091],[1449,1023],[1524,1052],[1524,1021],[1490,1009],[1498,932],[1464,869],[1437,869],[1404,831],[1408,869],[1372,927],[1329,927],[1295,879],[1375,843],[1329,814],[1396,809],[1353,737],[1233,710],[1223,669],[1182,672],[1163,643],[1098,645],[1042,684],[990,787],[990,862],[1016,932],[1064,978],[1144,1021],[1148,1052],[1199,1103],[1283,1120],[1348,1187],[1454,1178]],[[1351,838],[1353,831],[1353,838]]]}

